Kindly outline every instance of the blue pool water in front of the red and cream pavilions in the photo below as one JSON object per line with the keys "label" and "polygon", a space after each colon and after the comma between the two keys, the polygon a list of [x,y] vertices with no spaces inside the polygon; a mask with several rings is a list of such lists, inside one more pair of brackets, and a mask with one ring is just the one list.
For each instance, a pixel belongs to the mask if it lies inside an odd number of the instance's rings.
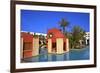
{"label": "blue pool water in front of the red and cream pavilions", "polygon": [[48,54],[46,48],[39,51],[39,56],[23,59],[23,62],[48,62],[48,61],[69,61],[69,60],[88,60],[89,47],[80,50],[70,50],[64,54]]}

